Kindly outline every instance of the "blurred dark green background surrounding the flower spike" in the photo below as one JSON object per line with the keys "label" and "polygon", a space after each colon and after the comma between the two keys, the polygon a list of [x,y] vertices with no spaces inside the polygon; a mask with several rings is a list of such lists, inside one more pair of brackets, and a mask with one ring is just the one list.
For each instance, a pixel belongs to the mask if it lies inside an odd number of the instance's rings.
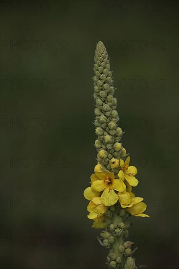
{"label": "blurred dark green background surrounding the flower spike", "polygon": [[107,268],[83,198],[102,40],[150,215],[132,217],[136,264],[177,269],[178,1],[1,1],[0,39],[2,268]]}

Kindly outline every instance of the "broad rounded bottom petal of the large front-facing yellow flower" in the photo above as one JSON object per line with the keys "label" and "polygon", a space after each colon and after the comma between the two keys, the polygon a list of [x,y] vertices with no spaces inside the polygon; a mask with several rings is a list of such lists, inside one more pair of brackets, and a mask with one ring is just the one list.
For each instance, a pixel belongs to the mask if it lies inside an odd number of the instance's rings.
{"label": "broad rounded bottom petal of the large front-facing yellow flower", "polygon": [[111,190],[110,187],[108,186],[105,188],[101,195],[101,202],[106,205],[106,206],[112,206],[118,201],[118,196],[114,192],[114,190]]}

